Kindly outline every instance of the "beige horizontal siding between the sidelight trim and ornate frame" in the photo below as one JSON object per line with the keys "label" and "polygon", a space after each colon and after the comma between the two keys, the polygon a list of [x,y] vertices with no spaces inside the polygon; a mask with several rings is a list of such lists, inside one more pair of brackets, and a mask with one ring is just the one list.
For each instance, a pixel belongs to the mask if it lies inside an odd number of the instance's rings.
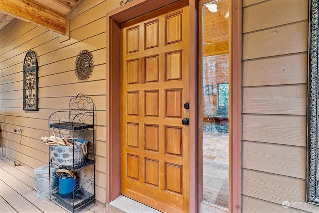
{"label": "beige horizontal siding between the sidelight trim and ornate frame", "polygon": [[242,211],[319,212],[306,203],[308,0],[243,0],[242,12]]}

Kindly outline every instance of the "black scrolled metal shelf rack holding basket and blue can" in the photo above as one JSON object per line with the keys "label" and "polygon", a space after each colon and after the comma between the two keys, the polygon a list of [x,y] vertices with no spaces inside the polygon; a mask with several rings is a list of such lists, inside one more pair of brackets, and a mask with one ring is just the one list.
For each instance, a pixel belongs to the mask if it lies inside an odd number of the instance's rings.
{"label": "black scrolled metal shelf rack holding basket and blue can", "polygon": [[73,213],[80,210],[82,206],[95,200],[94,108],[95,106],[91,97],[78,94],[76,97],[70,99],[69,110],[56,111],[49,117],[49,135],[51,135],[51,133],[58,134],[59,136],[67,134],[73,141],[74,139],[88,141],[88,154],[85,160],[76,164],[74,144],[73,159],[69,159],[72,163],[68,165],[53,162],[53,156],[51,156],[49,148],[50,164],[55,164],[60,167],[60,169],[72,171],[73,174],[76,174],[78,177],[76,189],[73,192],[61,194],[57,189],[50,193],[51,201],[64,206]]}

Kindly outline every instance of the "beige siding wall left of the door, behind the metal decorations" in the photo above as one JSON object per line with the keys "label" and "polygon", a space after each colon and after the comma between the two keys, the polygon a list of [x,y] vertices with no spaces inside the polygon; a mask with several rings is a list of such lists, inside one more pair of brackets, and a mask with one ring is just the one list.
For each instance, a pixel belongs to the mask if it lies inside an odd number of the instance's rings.
{"label": "beige siding wall left of the door, behind the metal decorations", "polygon": [[[0,122],[3,153],[18,163],[36,168],[48,163],[48,147],[40,137],[48,135],[48,117],[68,108],[78,93],[91,96],[96,106],[96,198],[105,202],[105,70],[106,12],[119,0],[81,1],[70,14],[70,39],[16,21],[0,33]],[[74,72],[76,56],[89,50],[94,59],[93,74],[80,82]],[[39,111],[23,110],[23,60],[33,50],[39,64]],[[22,128],[22,134],[13,130]],[[12,162],[13,165],[13,162]]]}

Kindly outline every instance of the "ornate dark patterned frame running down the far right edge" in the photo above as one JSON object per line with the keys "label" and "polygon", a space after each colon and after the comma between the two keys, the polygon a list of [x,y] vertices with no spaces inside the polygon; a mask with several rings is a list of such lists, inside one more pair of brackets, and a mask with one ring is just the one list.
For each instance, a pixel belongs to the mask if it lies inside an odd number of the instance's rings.
{"label": "ornate dark patterned frame running down the far right edge", "polygon": [[309,0],[308,103],[307,103],[307,201],[319,205],[319,35],[318,0]]}

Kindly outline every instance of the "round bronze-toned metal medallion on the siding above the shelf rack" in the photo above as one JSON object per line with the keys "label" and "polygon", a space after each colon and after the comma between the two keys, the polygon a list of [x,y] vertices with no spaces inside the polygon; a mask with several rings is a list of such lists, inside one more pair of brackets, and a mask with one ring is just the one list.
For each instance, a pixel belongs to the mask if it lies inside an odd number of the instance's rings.
{"label": "round bronze-toned metal medallion on the siding above the shelf rack", "polygon": [[86,81],[93,72],[93,56],[90,51],[82,50],[75,60],[75,75],[80,81]]}

